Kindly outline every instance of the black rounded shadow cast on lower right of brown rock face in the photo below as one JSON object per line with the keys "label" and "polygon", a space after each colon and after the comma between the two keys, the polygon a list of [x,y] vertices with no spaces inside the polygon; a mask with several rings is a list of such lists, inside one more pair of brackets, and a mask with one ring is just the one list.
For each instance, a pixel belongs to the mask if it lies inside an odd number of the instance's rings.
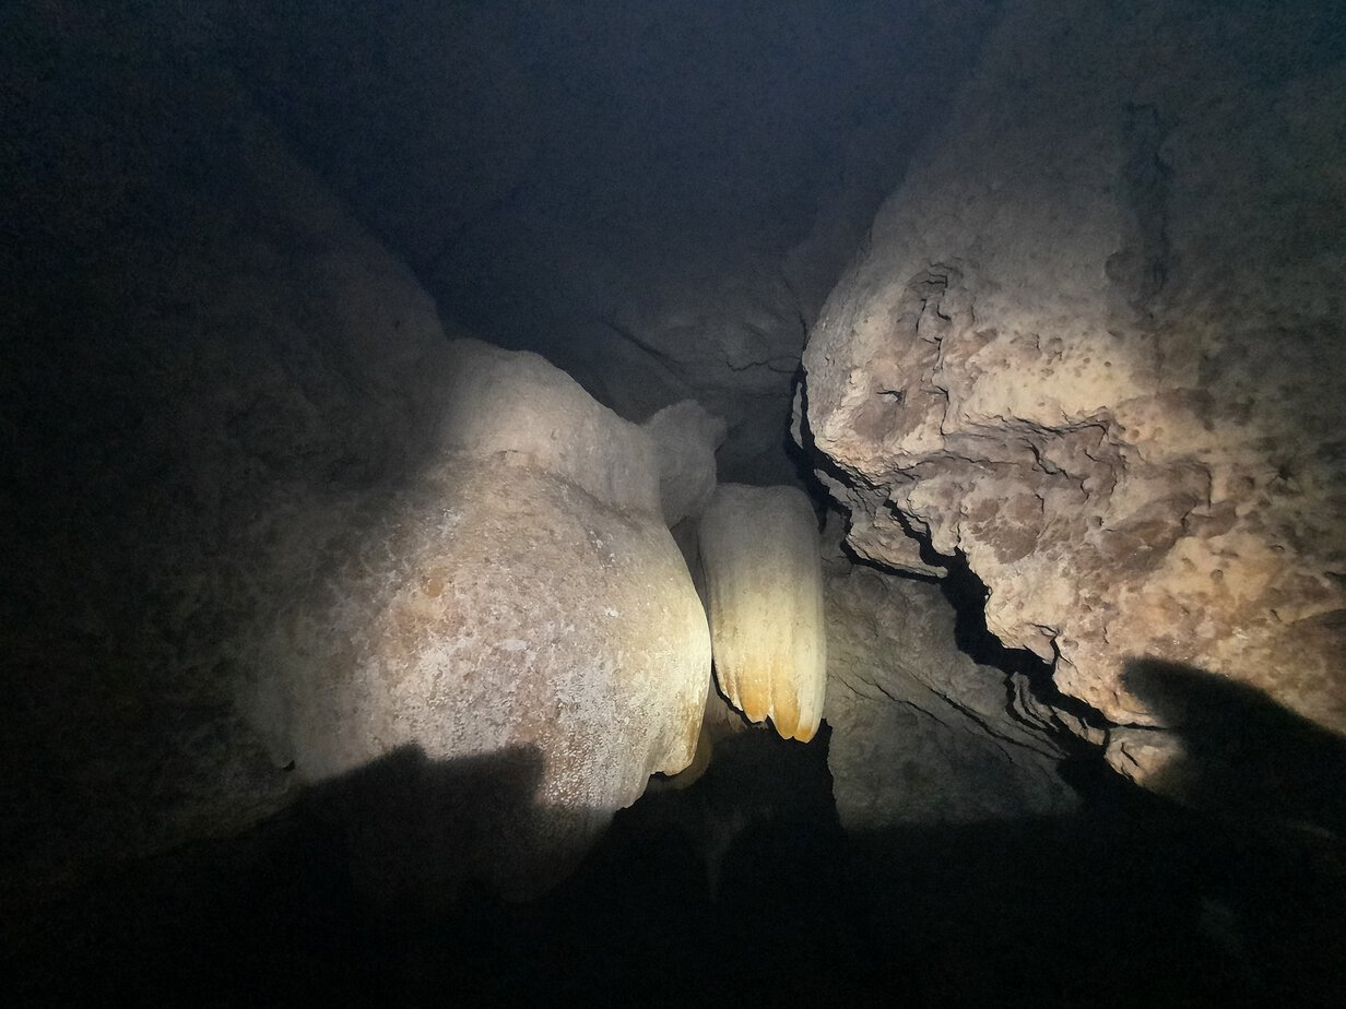
{"label": "black rounded shadow cast on lower right of brown rock face", "polygon": [[1123,682],[1180,744],[1155,791],[1269,830],[1346,838],[1346,739],[1195,666],[1135,658]]}

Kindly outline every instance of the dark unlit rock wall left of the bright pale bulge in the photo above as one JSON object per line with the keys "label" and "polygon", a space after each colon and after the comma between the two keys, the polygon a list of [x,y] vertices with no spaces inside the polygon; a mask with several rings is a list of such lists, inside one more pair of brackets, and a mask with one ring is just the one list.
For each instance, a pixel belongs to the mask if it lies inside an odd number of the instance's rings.
{"label": "dark unlit rock wall left of the bright pale bulge", "polygon": [[450,371],[409,272],[160,28],[0,26],[5,892],[293,796],[229,642],[287,599],[295,502],[415,472]]}

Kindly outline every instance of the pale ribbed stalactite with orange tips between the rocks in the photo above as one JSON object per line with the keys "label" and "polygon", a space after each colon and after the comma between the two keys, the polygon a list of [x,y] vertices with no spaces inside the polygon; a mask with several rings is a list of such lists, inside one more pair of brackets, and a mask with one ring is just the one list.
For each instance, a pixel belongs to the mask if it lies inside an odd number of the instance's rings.
{"label": "pale ribbed stalactite with orange tips between the rocks", "polygon": [[711,650],[720,690],[751,721],[813,739],[826,642],[818,531],[793,487],[720,484],[700,526]]}

